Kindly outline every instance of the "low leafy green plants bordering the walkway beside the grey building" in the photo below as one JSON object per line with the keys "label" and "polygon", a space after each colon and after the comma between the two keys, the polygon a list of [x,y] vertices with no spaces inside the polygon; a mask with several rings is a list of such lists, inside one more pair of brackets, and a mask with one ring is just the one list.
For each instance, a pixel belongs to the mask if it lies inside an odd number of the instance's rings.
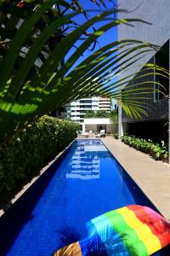
{"label": "low leafy green plants bordering the walkway beside the grey building", "polygon": [[122,142],[139,151],[150,154],[155,160],[167,160],[168,149],[165,143],[154,143],[152,140],[125,135]]}

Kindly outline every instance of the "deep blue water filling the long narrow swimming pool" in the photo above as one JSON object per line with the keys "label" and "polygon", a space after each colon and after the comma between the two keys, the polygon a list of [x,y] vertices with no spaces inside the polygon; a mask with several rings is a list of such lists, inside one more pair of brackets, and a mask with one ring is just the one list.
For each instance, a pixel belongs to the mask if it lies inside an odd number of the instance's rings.
{"label": "deep blue water filling the long narrow swimming pool", "polygon": [[[4,243],[0,255],[52,255],[57,248],[85,237],[89,219],[129,204],[150,206],[150,201],[100,140],[77,140],[55,169],[42,195],[15,231],[10,248],[5,248]],[[33,200],[36,196],[35,189],[29,197]],[[27,197],[18,212],[29,208]],[[9,223],[8,217],[6,225],[16,228],[25,214],[21,213],[19,217],[13,209],[13,222]],[[8,229],[6,232],[12,233],[14,228]]]}

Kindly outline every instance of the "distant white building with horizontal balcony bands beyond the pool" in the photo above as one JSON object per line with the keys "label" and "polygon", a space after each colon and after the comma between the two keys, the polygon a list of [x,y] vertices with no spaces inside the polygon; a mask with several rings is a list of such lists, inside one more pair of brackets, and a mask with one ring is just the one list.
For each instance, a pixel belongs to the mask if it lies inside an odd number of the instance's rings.
{"label": "distant white building with horizontal balcony bands beyond the pool", "polygon": [[65,106],[66,114],[65,118],[71,121],[83,122],[84,115],[88,110],[104,110],[106,112],[111,111],[111,99],[105,96],[92,96],[82,98],[75,102],[71,102]]}

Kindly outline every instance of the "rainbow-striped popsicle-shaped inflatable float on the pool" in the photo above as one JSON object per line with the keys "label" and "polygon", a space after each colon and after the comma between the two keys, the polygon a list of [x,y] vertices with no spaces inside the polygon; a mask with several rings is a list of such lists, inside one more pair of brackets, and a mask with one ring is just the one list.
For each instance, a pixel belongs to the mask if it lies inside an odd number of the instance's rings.
{"label": "rainbow-striped popsicle-shaped inflatable float on the pool", "polygon": [[147,256],[170,243],[170,224],[149,207],[132,205],[106,212],[87,224],[88,237],[54,256]]}

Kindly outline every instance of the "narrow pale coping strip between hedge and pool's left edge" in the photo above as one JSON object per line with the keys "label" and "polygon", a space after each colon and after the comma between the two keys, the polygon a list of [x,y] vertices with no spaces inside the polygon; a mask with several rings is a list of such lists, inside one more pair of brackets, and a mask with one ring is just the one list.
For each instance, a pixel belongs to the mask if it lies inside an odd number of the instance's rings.
{"label": "narrow pale coping strip between hedge and pool's left edge", "polygon": [[19,191],[16,195],[14,195],[14,198],[13,198],[7,205],[4,205],[4,208],[6,208],[6,210],[0,209],[0,218],[3,216],[3,214],[4,214],[5,212],[8,211],[8,209],[10,209],[10,207],[12,207],[12,206],[14,205],[14,203],[15,203],[16,201],[18,201],[18,200],[20,199],[20,197],[21,197],[22,195],[24,195],[24,194],[26,193],[26,191],[27,191],[28,189],[31,188],[31,186],[32,186],[34,183],[37,182],[37,180],[38,180],[40,177],[42,177],[42,175],[43,175],[44,173],[46,173],[46,172],[48,171],[48,168],[49,168],[50,166],[52,166],[56,160],[59,160],[61,157],[64,156],[64,154],[71,148],[71,145],[72,145],[76,140],[77,140],[77,138],[75,138],[67,147],[65,147],[65,149],[64,149],[63,151],[59,152],[59,154],[57,154],[57,155],[54,157],[53,160],[49,161],[48,164],[47,164],[46,166],[44,166],[44,167],[42,168],[42,170],[39,172],[39,175],[38,175],[38,176],[33,177],[33,178],[31,179],[31,182],[29,182],[29,183],[27,183],[25,186],[23,186],[22,189],[20,189],[20,191]]}

